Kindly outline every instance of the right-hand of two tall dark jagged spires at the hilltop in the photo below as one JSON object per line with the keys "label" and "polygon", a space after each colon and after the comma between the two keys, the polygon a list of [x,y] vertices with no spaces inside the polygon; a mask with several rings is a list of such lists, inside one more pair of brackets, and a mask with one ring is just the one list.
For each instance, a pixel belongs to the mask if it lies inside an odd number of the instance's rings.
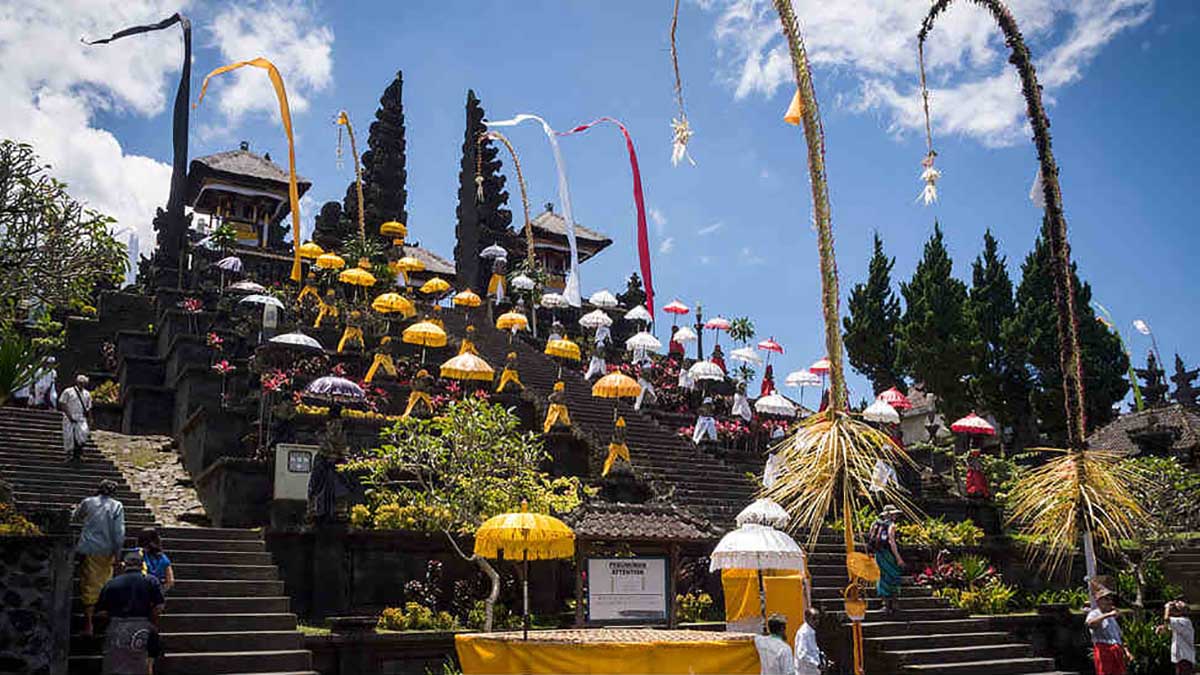
{"label": "right-hand of two tall dark jagged spires at the hilltop", "polygon": [[[484,264],[479,253],[492,244],[505,245],[512,233],[512,211],[504,208],[509,193],[504,190],[504,177],[500,175],[499,149],[492,141],[479,144],[479,136],[487,131],[484,125],[484,107],[475,97],[474,90],[467,91],[467,130],[462,141],[462,162],[458,167],[458,223],[455,227],[456,243],[454,262],[458,283],[470,286],[482,293],[492,268]],[[484,198],[478,198],[475,184],[476,151],[482,149],[482,189]]]}

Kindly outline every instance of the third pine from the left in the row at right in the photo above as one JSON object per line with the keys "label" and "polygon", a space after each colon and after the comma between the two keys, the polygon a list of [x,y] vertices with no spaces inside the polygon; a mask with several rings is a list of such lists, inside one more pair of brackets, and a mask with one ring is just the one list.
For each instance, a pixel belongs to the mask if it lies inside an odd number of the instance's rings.
{"label": "third pine from the left in the row at right", "polygon": [[[1016,303],[1008,259],[991,229],[984,232],[983,252],[971,265],[967,298],[971,323],[971,390],[978,406],[995,416],[1001,426],[1021,428],[1028,419],[1028,372],[1021,358],[1013,358],[1004,340],[1004,325],[1013,321]],[[1019,352],[1018,352],[1019,353]],[[1019,434],[1019,438],[1022,436]],[[1024,440],[1024,438],[1022,438]]]}

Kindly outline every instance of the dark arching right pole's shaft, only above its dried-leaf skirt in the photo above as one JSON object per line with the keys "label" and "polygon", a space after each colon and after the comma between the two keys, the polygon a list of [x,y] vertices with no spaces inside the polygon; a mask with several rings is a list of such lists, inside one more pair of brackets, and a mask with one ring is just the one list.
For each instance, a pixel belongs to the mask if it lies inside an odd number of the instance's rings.
{"label": "dark arching right pole's shaft, only above its dried-leaf skirt", "polygon": [[[1016,67],[1021,79],[1021,92],[1025,95],[1026,114],[1033,130],[1033,144],[1038,151],[1042,171],[1042,190],[1045,202],[1045,217],[1049,223],[1050,256],[1055,279],[1055,306],[1058,324],[1058,365],[1062,370],[1063,406],[1067,412],[1068,448],[1081,450],[1087,437],[1087,417],[1084,399],[1084,364],[1079,347],[1079,318],[1075,312],[1075,286],[1070,275],[1070,244],[1067,238],[1067,219],[1062,211],[1062,189],[1058,185],[1058,166],[1050,149],[1050,119],[1042,103],[1042,88],[1038,85],[1037,71],[1030,49],[1025,46],[1016,20],[998,0],[973,0],[977,5],[991,12],[1004,34],[1004,43],[1012,49],[1009,62]],[[918,48],[923,48],[929,31],[938,14],[946,11],[952,0],[935,0],[929,14],[920,24],[917,35]],[[920,53],[920,52],[918,52]],[[924,86],[923,86],[924,89]],[[928,98],[926,98],[928,101]],[[928,107],[928,103],[926,103]]]}

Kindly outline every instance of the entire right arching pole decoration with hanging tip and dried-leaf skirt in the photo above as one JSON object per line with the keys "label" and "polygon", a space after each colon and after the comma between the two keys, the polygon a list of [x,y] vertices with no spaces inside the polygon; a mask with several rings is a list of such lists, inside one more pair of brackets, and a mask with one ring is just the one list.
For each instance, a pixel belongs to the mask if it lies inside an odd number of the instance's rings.
{"label": "entire right arching pole decoration with hanging tip and dried-leaf skirt", "polygon": [[[1060,567],[1080,542],[1088,578],[1094,578],[1096,552],[1093,538],[1106,546],[1116,546],[1130,536],[1148,516],[1134,495],[1144,477],[1120,462],[1120,456],[1103,449],[1088,449],[1087,422],[1084,399],[1084,365],[1079,347],[1079,318],[1075,313],[1075,283],[1070,274],[1070,246],[1067,240],[1067,219],[1062,211],[1062,190],[1058,167],[1050,149],[1050,118],[1042,104],[1042,88],[1030,49],[1016,28],[1016,20],[1000,0],[973,0],[988,10],[1004,34],[1012,50],[1009,62],[1016,67],[1025,96],[1026,114],[1033,130],[1038,154],[1038,187],[1045,209],[1050,243],[1051,273],[1055,277],[1055,310],[1058,328],[1058,364],[1062,372],[1063,405],[1067,412],[1067,449],[1048,464],[1021,478],[1009,492],[1012,501],[1009,522],[1030,534],[1036,545],[1031,552],[1042,557],[1054,571]],[[937,16],[950,0],[935,0],[920,25],[918,49],[934,28]],[[918,52],[919,54],[920,52]],[[922,74],[924,91],[924,74]],[[926,95],[928,120],[928,95]],[[926,135],[926,139],[929,136]]]}

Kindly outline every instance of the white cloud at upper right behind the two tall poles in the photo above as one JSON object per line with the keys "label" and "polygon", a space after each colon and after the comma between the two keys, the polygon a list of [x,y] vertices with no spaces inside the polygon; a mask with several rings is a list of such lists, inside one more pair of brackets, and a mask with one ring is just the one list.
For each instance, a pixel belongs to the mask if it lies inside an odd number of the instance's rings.
{"label": "white cloud at upper right behind the two tall poles", "polygon": [[[812,64],[857,77],[858,91],[845,97],[852,109],[882,113],[894,133],[924,127],[916,32],[928,2],[796,0],[794,5]],[[1008,2],[1031,43],[1048,103],[1055,90],[1079,80],[1117,34],[1144,23],[1152,5],[1153,0]],[[791,61],[770,4],[727,0],[714,8],[720,77],[734,97],[790,89]],[[925,48],[935,139],[954,133],[1002,145],[1026,136],[1025,104],[1007,59],[1003,37],[988,12],[959,2],[942,14]],[[824,92],[824,101],[838,98],[836,92]]]}

